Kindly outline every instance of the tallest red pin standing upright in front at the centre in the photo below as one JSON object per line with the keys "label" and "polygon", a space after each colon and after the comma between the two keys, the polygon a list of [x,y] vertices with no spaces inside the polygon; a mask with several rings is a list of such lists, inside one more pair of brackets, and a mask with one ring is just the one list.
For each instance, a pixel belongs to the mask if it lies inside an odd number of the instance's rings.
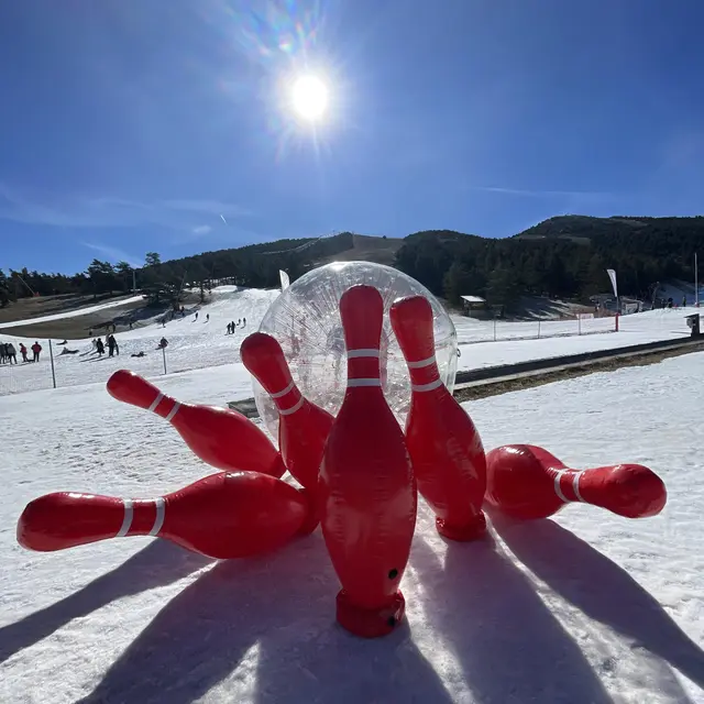
{"label": "tallest red pin standing upright in front at the centre", "polygon": [[340,300],[348,388],[320,468],[322,531],[342,583],[338,622],[369,638],[403,618],[398,584],[416,524],[410,457],[380,380],[383,315],[372,286],[353,286]]}

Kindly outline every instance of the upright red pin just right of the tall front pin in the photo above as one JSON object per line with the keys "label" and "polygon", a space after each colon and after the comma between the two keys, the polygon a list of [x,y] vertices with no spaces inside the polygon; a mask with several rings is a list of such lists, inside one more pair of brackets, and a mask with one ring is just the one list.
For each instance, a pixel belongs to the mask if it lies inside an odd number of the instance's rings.
{"label": "upright red pin just right of the tall front pin", "polygon": [[472,540],[486,530],[482,439],[440,378],[428,300],[424,296],[400,298],[392,305],[389,317],[410,373],[406,444],[418,491],[435,510],[440,535]]}

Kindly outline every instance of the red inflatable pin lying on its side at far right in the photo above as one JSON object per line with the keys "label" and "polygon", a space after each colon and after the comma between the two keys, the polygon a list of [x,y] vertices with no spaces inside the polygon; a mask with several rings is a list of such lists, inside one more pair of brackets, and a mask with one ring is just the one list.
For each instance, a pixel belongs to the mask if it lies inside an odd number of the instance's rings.
{"label": "red inflatable pin lying on its side at far right", "polygon": [[547,518],[570,502],[645,518],[662,510],[668,493],[662,480],[642,464],[578,471],[542,448],[507,444],[486,453],[485,498],[514,518]]}

